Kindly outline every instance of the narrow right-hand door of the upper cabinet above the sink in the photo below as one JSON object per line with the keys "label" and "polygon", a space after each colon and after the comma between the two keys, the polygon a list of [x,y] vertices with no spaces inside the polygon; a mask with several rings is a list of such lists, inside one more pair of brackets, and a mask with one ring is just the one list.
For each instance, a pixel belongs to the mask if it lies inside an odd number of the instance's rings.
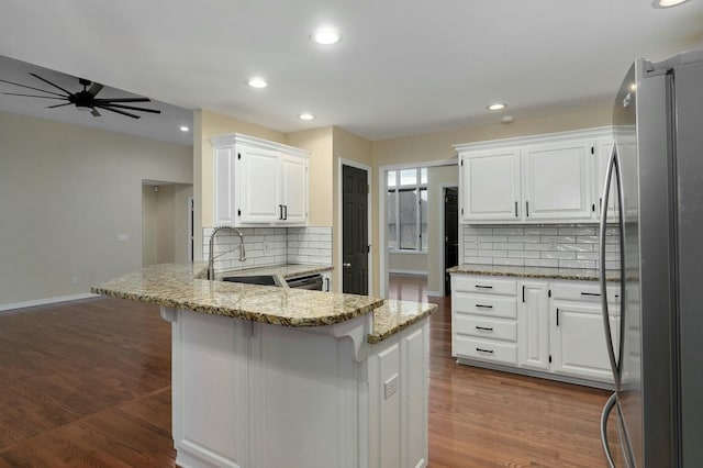
{"label": "narrow right-hand door of the upper cabinet above the sink", "polygon": [[308,222],[308,159],[281,155],[281,204],[284,224]]}

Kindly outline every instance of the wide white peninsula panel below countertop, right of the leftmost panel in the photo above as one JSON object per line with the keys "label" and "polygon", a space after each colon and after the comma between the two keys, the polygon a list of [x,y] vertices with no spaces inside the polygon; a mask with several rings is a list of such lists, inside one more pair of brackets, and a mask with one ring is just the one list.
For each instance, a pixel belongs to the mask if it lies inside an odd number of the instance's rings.
{"label": "wide white peninsula panel below countertop, right of the leftmost panel", "polygon": [[[364,326],[362,321],[358,321]],[[356,468],[360,364],[336,326],[255,323],[250,355],[252,467]]]}

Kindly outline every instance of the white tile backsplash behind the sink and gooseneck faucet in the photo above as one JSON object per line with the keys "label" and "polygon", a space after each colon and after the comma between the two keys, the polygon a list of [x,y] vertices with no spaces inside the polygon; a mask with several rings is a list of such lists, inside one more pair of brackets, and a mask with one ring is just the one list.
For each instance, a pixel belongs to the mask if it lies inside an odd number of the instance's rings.
{"label": "white tile backsplash behind the sink and gooseneck faucet", "polygon": [[[239,261],[239,237],[228,231],[215,238],[215,269],[283,264],[332,265],[332,227],[238,227],[246,260]],[[203,229],[203,260],[210,254],[212,227]]]}

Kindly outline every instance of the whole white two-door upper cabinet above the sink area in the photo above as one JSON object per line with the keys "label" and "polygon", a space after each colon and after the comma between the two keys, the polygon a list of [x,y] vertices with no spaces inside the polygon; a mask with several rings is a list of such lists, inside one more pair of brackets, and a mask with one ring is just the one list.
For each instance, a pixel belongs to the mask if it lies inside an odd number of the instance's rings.
{"label": "whole white two-door upper cabinet above the sink area", "polygon": [[308,224],[306,152],[241,134],[211,141],[215,225]]}

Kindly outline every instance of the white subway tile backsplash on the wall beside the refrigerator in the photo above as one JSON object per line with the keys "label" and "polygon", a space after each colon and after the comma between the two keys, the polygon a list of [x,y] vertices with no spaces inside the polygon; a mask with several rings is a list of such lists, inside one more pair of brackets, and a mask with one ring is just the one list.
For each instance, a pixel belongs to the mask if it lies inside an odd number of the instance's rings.
{"label": "white subway tile backsplash on the wall beside the refrigerator", "polygon": [[[599,226],[464,225],[464,263],[526,267],[598,268]],[[620,267],[617,229],[605,237],[605,268]]]}

